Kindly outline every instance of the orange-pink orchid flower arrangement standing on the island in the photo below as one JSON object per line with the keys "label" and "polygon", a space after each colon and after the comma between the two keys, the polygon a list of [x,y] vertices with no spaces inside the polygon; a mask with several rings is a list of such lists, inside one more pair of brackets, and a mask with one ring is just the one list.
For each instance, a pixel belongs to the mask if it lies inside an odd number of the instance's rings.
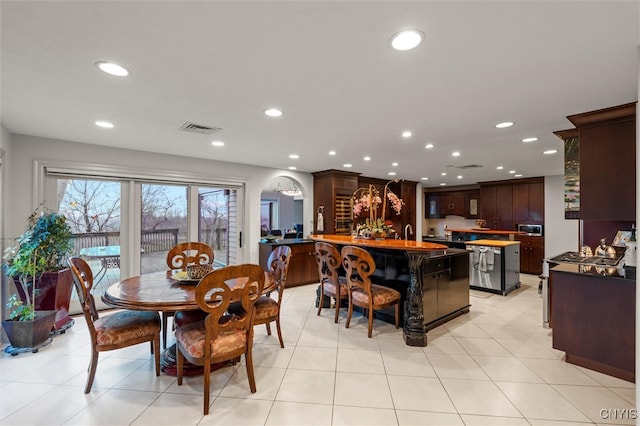
{"label": "orange-pink orchid flower arrangement standing on the island", "polygon": [[[364,222],[356,225],[356,232],[359,237],[386,237],[394,231],[391,221],[385,220],[387,213],[387,201],[396,214],[400,214],[404,201],[389,189],[388,182],[384,186],[382,196],[375,186],[369,185],[366,188],[358,188],[353,193],[353,216],[361,217],[363,212],[368,212],[369,217]],[[380,205],[382,208],[380,209]],[[379,212],[380,210],[380,212]]]}

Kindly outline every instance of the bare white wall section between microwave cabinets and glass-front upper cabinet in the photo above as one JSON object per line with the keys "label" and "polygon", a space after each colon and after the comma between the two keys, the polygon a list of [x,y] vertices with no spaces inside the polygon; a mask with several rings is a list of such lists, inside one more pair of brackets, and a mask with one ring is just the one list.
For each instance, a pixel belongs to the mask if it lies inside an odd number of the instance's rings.
{"label": "bare white wall section between microwave cabinets and glass-front upper cabinet", "polygon": [[544,178],[544,255],[578,251],[579,221],[564,218],[564,176]]}

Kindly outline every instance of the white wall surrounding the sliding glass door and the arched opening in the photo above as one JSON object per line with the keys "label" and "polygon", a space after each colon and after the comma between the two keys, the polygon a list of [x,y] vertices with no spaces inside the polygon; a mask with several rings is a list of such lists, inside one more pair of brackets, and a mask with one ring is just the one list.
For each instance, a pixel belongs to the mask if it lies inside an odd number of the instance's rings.
{"label": "white wall surrounding the sliding glass door and the arched opening", "polygon": [[[2,137],[6,143],[5,135]],[[38,138],[25,135],[10,135],[9,149],[7,149],[6,200],[10,200],[5,214],[6,236],[15,238],[24,231],[27,216],[37,207],[40,200],[33,194],[34,189],[34,161],[67,161],[84,164],[99,164],[107,166],[127,167],[140,170],[166,171],[170,174],[202,174],[203,178],[234,179],[244,181],[245,211],[243,221],[244,259],[247,262],[258,263],[258,241],[260,239],[260,194],[265,185],[278,176],[289,176],[300,183],[305,199],[304,224],[305,229],[311,229],[313,223],[313,176],[307,173],[297,173],[266,167],[248,166],[199,158],[180,157],[174,155],[149,153],[143,151],[123,150],[100,145],[91,145],[61,141],[56,139]],[[272,189],[272,188],[271,188]],[[247,235],[248,234],[248,235]]]}

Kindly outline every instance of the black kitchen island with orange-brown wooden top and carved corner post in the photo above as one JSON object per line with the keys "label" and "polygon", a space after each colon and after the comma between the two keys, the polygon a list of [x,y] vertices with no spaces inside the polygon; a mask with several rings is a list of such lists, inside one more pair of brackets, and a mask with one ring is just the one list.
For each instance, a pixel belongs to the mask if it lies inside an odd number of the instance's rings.
{"label": "black kitchen island with orange-brown wooden top and carved corner post", "polygon": [[[395,288],[402,296],[403,338],[409,346],[427,346],[429,329],[469,312],[469,255],[465,250],[346,235],[311,235],[311,239],[334,244],[339,250],[353,245],[371,253],[376,262],[372,281]],[[376,314],[383,316],[384,312]]]}

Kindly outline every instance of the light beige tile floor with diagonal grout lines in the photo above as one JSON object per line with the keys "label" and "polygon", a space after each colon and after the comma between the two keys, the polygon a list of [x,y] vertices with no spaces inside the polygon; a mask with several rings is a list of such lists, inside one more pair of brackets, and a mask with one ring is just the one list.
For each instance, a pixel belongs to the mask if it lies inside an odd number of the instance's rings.
{"label": "light beige tile floor with diagonal grout lines", "polygon": [[404,345],[390,324],[376,321],[368,339],[359,315],[349,329],[344,312],[339,325],[332,310],[316,316],[316,285],[287,289],[286,347],[257,327],[257,393],[243,365],[215,371],[208,416],[203,378],[157,378],[147,344],[102,354],[85,395],[89,336],[78,317],[37,354],[2,353],[0,424],[634,424],[624,410],[635,410],[635,385],[565,363],[541,325],[537,278],[522,279],[506,297],[472,292],[471,312],[430,331],[426,348]]}

